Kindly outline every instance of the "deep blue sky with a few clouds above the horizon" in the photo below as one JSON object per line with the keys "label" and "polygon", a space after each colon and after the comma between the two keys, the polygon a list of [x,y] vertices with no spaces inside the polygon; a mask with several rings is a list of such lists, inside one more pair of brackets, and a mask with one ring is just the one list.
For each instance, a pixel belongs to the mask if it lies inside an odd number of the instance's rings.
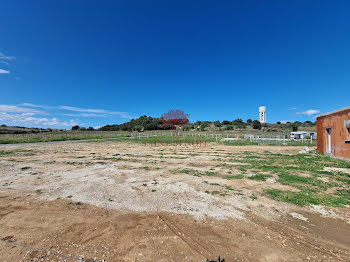
{"label": "deep blue sky with a few clouds above the horizon", "polygon": [[4,1],[0,124],[314,121],[349,106],[349,1]]}

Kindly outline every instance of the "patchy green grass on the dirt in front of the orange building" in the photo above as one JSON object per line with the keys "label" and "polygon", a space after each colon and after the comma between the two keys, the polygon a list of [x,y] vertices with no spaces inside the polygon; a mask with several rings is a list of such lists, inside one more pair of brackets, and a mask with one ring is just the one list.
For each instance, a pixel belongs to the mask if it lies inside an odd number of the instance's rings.
{"label": "patchy green grass on the dirt in front of the orange building", "polygon": [[[216,165],[216,168],[220,169],[217,173],[230,174],[232,171],[242,173],[226,175],[226,179],[250,179],[265,183],[273,176],[275,182],[269,184],[271,186],[264,192],[274,200],[299,206],[350,205],[350,174],[346,172],[346,169],[350,169],[348,161],[314,153],[287,155],[268,151],[228,153],[226,156],[221,155],[220,161],[225,163]],[[325,168],[342,168],[344,171],[325,171]],[[276,189],[274,186],[276,183],[289,186],[291,189]]]}

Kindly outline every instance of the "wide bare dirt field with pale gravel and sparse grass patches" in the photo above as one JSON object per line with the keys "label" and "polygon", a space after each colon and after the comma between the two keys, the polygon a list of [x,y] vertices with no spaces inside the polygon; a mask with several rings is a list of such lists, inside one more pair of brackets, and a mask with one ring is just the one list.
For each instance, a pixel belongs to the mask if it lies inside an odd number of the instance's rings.
{"label": "wide bare dirt field with pale gravel and sparse grass patches", "polygon": [[1,146],[0,261],[350,261],[350,169],[301,149]]}

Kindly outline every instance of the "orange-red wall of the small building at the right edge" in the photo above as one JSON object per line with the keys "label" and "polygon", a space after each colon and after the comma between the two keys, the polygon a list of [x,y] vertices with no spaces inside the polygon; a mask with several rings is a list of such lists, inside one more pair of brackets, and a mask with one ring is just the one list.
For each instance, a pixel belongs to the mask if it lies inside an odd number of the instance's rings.
{"label": "orange-red wall of the small building at the right edge", "polygon": [[[322,154],[331,154],[335,157],[350,159],[350,109],[317,118],[317,150]],[[349,129],[348,129],[349,127]],[[331,129],[332,151],[327,152]],[[348,142],[346,142],[348,140]]]}

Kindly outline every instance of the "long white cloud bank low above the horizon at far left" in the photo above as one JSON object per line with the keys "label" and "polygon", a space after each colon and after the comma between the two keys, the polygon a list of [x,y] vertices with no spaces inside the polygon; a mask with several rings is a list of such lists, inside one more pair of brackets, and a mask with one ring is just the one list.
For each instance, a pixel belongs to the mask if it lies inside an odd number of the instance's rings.
{"label": "long white cloud bank low above the horizon at far left", "polygon": [[74,126],[78,123],[74,120],[60,121],[57,118],[33,117],[32,114],[8,114],[0,112],[0,121],[10,123],[21,123],[26,125],[41,125],[41,126]]}

